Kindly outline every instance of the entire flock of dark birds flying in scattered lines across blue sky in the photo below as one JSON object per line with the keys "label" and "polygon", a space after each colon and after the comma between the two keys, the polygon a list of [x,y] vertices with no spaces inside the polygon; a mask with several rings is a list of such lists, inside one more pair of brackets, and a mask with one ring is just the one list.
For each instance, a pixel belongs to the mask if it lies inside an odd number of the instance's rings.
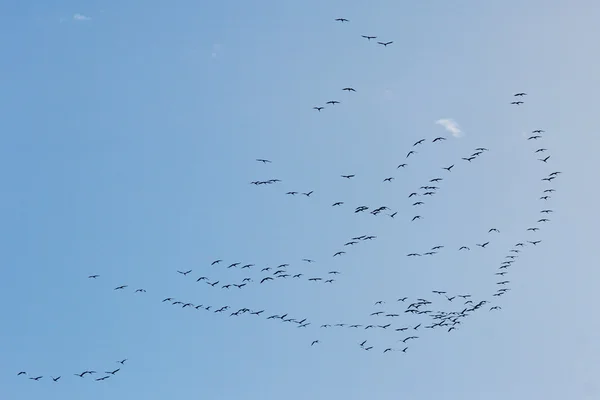
{"label": "entire flock of dark birds flying in scattered lines across blue sky", "polygon": [[[337,18],[336,21],[341,23],[349,22],[345,18]],[[377,39],[377,36],[363,35],[368,41]],[[376,42],[383,47],[387,47],[393,43],[393,41],[378,41]],[[357,92],[353,87],[344,87],[343,91],[346,92]],[[518,100],[512,101],[511,105],[522,105],[522,100],[527,93],[519,92],[514,94],[514,98]],[[340,102],[337,100],[330,100],[326,102],[327,105],[337,105]],[[325,106],[314,107],[317,111],[322,111]],[[545,133],[542,129],[533,130],[531,136],[527,138],[527,142],[538,142],[543,140],[543,134]],[[418,150],[423,146],[443,146],[443,143],[447,140],[444,136],[437,136],[433,138],[422,138],[412,144],[409,151],[405,156],[405,161],[398,164],[396,170],[405,169],[408,167],[410,160],[414,157],[418,157]],[[386,216],[387,218],[406,218],[407,223],[418,223],[419,220],[424,218],[423,206],[425,205],[426,199],[433,196],[439,195],[442,191],[442,182],[446,180],[446,177],[455,174],[454,170],[460,169],[459,164],[468,167],[472,162],[476,161],[479,157],[485,156],[490,150],[485,147],[477,147],[473,149],[470,154],[466,154],[451,165],[439,166],[439,176],[430,179],[428,182],[423,182],[419,188],[407,191],[406,198],[408,199],[407,207],[411,210],[408,213],[401,213],[400,209],[392,209],[387,205],[366,205],[357,204],[352,205],[349,208],[345,201],[341,199],[332,199],[330,207],[339,209],[348,209],[348,212],[359,214],[369,213],[373,216]],[[538,160],[544,164],[548,164],[550,155],[547,155],[548,150],[544,147],[536,147],[532,149],[532,153],[535,157],[540,157]],[[265,158],[258,158],[256,162],[270,165],[273,164],[271,160]],[[546,176],[540,178],[542,181],[547,182],[549,185],[559,177],[560,171],[553,171],[548,173]],[[340,179],[352,180],[356,177],[353,173],[341,175]],[[388,184],[394,181],[393,175],[382,177],[382,182]],[[256,186],[273,185],[282,182],[278,178],[271,178],[267,180],[255,180],[251,184]],[[540,193],[539,199],[544,203],[551,200],[555,190],[548,186]],[[301,191],[282,191],[282,194],[287,196],[304,196],[311,198],[314,194],[313,190]],[[401,213],[401,214],[400,214]],[[387,331],[390,332],[392,341],[381,345],[372,343],[371,339],[365,337],[356,343],[356,347],[364,351],[380,351],[382,353],[406,353],[411,346],[411,343],[419,340],[421,332],[425,330],[439,331],[443,330],[450,333],[457,330],[463,321],[473,315],[475,312],[480,310],[488,310],[489,312],[497,312],[501,310],[501,306],[497,303],[497,299],[501,296],[506,295],[510,290],[511,281],[509,278],[510,269],[518,262],[518,258],[525,249],[535,248],[542,241],[537,238],[538,231],[540,231],[545,224],[550,222],[548,215],[553,213],[550,208],[541,208],[540,217],[537,218],[535,223],[532,223],[525,232],[524,237],[519,241],[515,241],[515,244],[509,248],[494,272],[496,278],[495,292],[487,298],[474,298],[469,293],[449,293],[445,290],[432,290],[427,296],[419,298],[400,297],[388,300],[378,300],[373,306],[375,309],[369,315],[365,315],[363,319],[359,321],[335,321],[316,323],[309,319],[307,316],[295,316],[289,315],[285,312],[268,312],[265,309],[252,309],[247,307],[232,308],[227,304],[205,304],[197,303],[195,301],[189,301],[188,299],[180,299],[177,297],[164,297],[157,298],[157,302],[168,304],[170,306],[180,307],[181,309],[188,309],[203,313],[213,313],[217,315],[223,315],[228,317],[252,317],[252,318],[264,318],[265,320],[279,322],[294,326],[298,329],[315,329],[314,338],[308,343],[309,346],[319,345],[322,338],[319,337],[320,331],[327,329],[353,329],[362,330],[364,335],[371,331]],[[401,215],[401,216],[399,216]],[[454,250],[460,252],[468,252],[472,249],[479,248],[481,251],[488,248],[494,241],[494,235],[500,234],[500,230],[491,227],[487,236],[478,243],[464,243],[457,246]],[[528,237],[525,235],[536,235]],[[366,243],[372,240],[376,240],[377,236],[365,233],[360,236],[350,237],[344,240],[340,247],[333,249],[331,252],[332,258],[342,257],[349,253],[350,249]],[[434,256],[442,251],[445,251],[446,246],[435,245],[425,251],[416,251],[406,254],[409,258],[427,257]],[[323,261],[323,260],[320,260]],[[242,290],[251,285],[271,285],[275,282],[281,282],[284,280],[299,280],[307,281],[314,284],[335,284],[343,276],[343,273],[336,269],[323,269],[317,273],[315,269],[306,269],[302,266],[304,264],[317,263],[316,260],[311,258],[303,258],[296,262],[285,262],[278,265],[256,265],[252,262],[244,262],[239,260],[225,261],[223,259],[215,259],[208,265],[208,269],[204,269],[203,273],[193,275],[193,270],[177,270],[174,273],[181,275],[182,278],[189,279],[191,283],[203,285],[203,287],[211,287],[214,290]],[[320,262],[319,262],[320,263]],[[323,263],[325,264],[325,263]],[[237,279],[224,279],[222,276],[224,271],[237,271]],[[208,272],[207,272],[208,271]],[[307,272],[311,271],[311,272]],[[231,274],[228,274],[231,275]],[[100,278],[100,274],[92,274],[88,276],[90,280],[96,280]],[[135,294],[146,293],[144,288],[130,287],[128,284],[120,284],[113,287],[114,291],[130,291]],[[120,364],[124,364],[126,359],[118,361]],[[95,381],[107,380],[120,371],[117,368],[112,371],[106,371],[105,374],[99,375],[95,378]],[[93,377],[96,371],[86,370],[81,373],[75,373],[74,375],[79,378],[85,378],[87,375]],[[44,378],[43,375],[28,375],[26,371],[20,371],[17,373],[18,376],[28,377],[32,381],[40,381]],[[58,382],[61,376],[51,376],[54,382]]]}

